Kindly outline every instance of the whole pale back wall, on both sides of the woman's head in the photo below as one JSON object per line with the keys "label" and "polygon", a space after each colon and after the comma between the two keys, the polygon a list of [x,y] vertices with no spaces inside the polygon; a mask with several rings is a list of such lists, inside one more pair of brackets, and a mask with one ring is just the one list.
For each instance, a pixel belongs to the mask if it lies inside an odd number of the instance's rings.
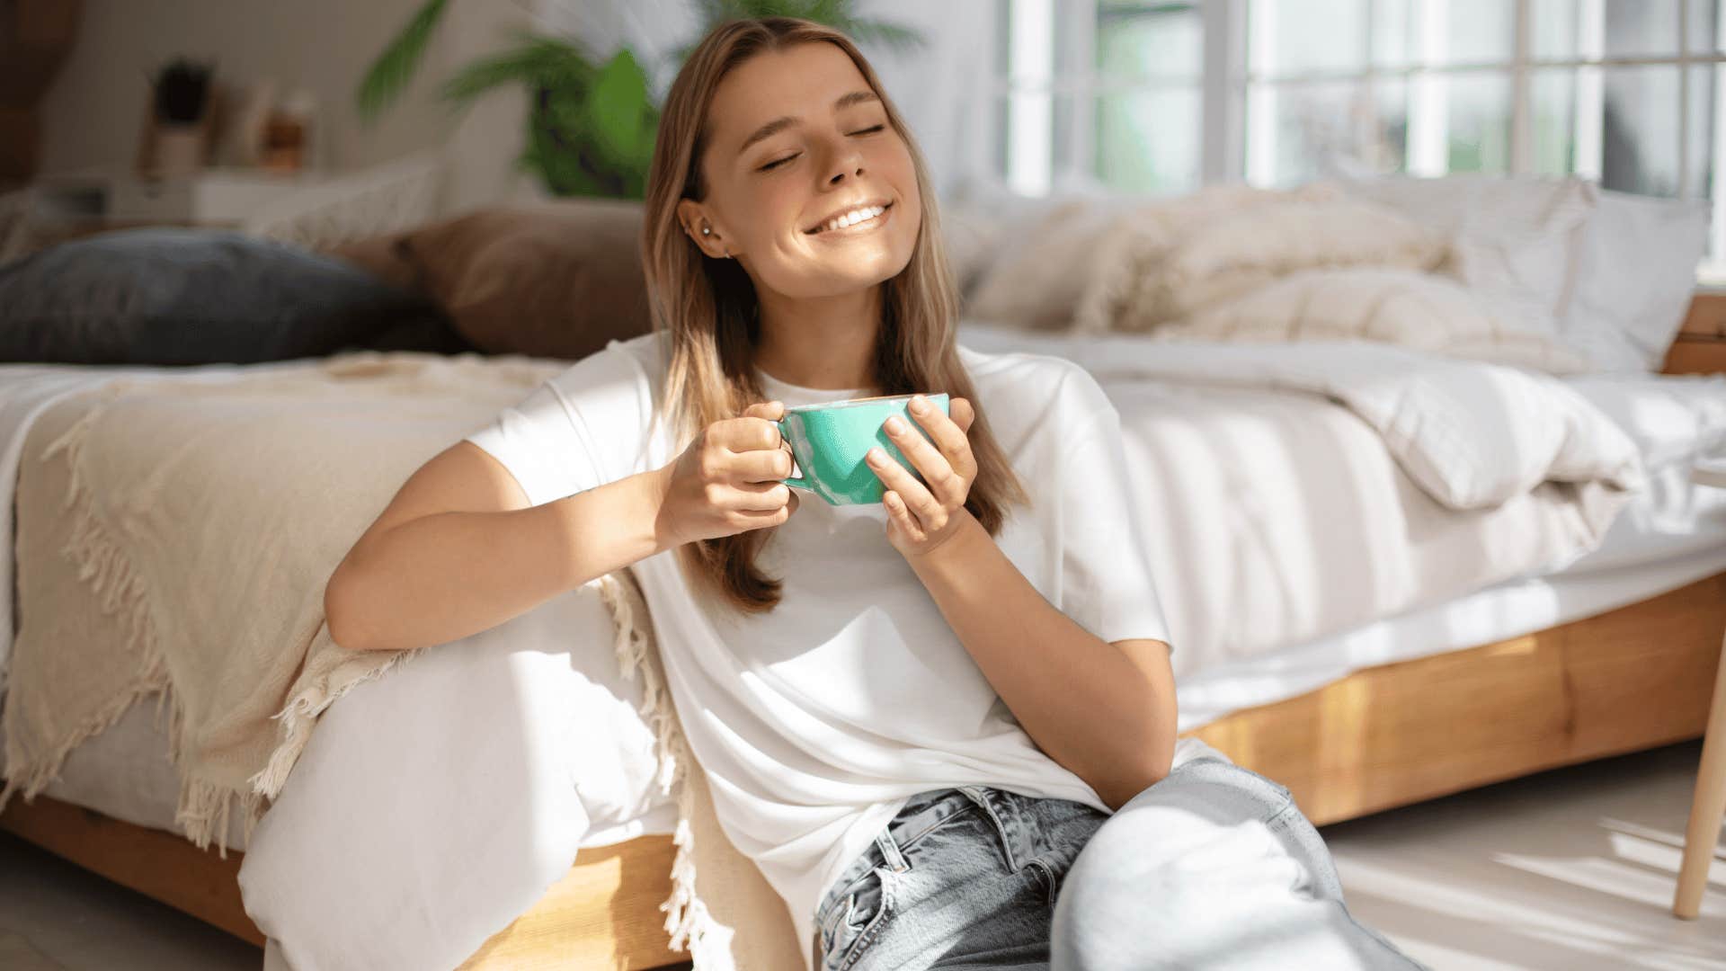
{"label": "whole pale back wall, on both sides of the woman's head", "polygon": [[[452,0],[421,71],[402,98],[364,126],[354,88],[371,59],[421,0],[85,0],[71,57],[43,104],[43,173],[129,168],[138,149],[148,76],[174,55],[214,59],[217,79],[249,85],[274,78],[278,92],[318,97],[318,164],[356,169],[445,145],[442,211],[502,199],[542,197],[514,169],[523,145],[525,95],[494,92],[457,117],[437,85],[476,55],[507,45],[528,26],[571,33],[599,55],[628,41],[663,95],[666,55],[696,38],[692,0]],[[925,31],[920,54],[865,47],[889,95],[908,117],[946,194],[987,159],[982,123],[992,0],[861,0],[870,16]]]}

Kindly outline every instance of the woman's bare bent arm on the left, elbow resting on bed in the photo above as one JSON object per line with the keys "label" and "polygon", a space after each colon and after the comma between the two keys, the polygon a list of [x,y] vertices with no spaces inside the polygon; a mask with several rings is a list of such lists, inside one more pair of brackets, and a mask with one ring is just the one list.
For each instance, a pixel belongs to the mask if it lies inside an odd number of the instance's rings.
{"label": "woman's bare bent arm on the left, elbow resting on bed", "polygon": [[331,639],[349,650],[456,641],[658,553],[661,472],[530,506],[502,463],[456,442],[407,479],[331,574]]}

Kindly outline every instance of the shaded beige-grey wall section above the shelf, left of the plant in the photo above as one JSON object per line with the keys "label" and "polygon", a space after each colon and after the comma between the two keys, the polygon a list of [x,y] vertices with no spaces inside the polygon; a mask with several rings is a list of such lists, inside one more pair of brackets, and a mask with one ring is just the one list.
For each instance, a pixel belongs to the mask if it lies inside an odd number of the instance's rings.
{"label": "shaded beige-grey wall section above the shelf, left of the plant", "polygon": [[85,0],[78,41],[43,100],[41,171],[116,166],[138,150],[150,74],[176,55],[216,60],[217,81],[273,78],[280,95],[318,98],[316,161],[357,169],[447,145],[444,209],[521,192],[511,171],[521,150],[518,92],[494,92],[466,117],[435,98],[454,66],[507,43],[526,24],[520,3],[454,0],[413,85],[375,124],[362,124],[354,90],[373,57],[421,0]]}

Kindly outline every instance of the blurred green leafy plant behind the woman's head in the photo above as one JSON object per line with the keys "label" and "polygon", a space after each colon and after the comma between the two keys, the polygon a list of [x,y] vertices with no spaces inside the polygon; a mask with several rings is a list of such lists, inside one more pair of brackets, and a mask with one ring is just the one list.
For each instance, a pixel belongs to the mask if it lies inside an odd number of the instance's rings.
{"label": "blurred green leafy plant behind the woman's head", "polygon": [[[694,3],[701,14],[701,35],[732,19],[785,16],[894,48],[923,43],[913,29],[854,16],[851,0]],[[375,119],[413,79],[447,5],[449,0],[426,0],[366,71],[356,92],[362,119]],[[673,66],[682,66],[697,41],[677,48]],[[468,104],[502,85],[521,85],[528,92],[528,138],[518,164],[533,171],[547,192],[620,199],[646,195],[659,109],[652,104],[647,71],[628,47],[602,57],[576,38],[526,31],[509,48],[456,73],[444,83],[442,97]]]}

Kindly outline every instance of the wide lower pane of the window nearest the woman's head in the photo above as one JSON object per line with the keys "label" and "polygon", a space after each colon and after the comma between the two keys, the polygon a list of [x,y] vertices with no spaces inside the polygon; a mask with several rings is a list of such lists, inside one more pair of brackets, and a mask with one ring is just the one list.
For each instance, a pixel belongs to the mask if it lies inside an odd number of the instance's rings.
{"label": "wide lower pane of the window nearest the woman's head", "polygon": [[1096,175],[1131,192],[1198,188],[1196,86],[1101,95],[1096,100]]}

